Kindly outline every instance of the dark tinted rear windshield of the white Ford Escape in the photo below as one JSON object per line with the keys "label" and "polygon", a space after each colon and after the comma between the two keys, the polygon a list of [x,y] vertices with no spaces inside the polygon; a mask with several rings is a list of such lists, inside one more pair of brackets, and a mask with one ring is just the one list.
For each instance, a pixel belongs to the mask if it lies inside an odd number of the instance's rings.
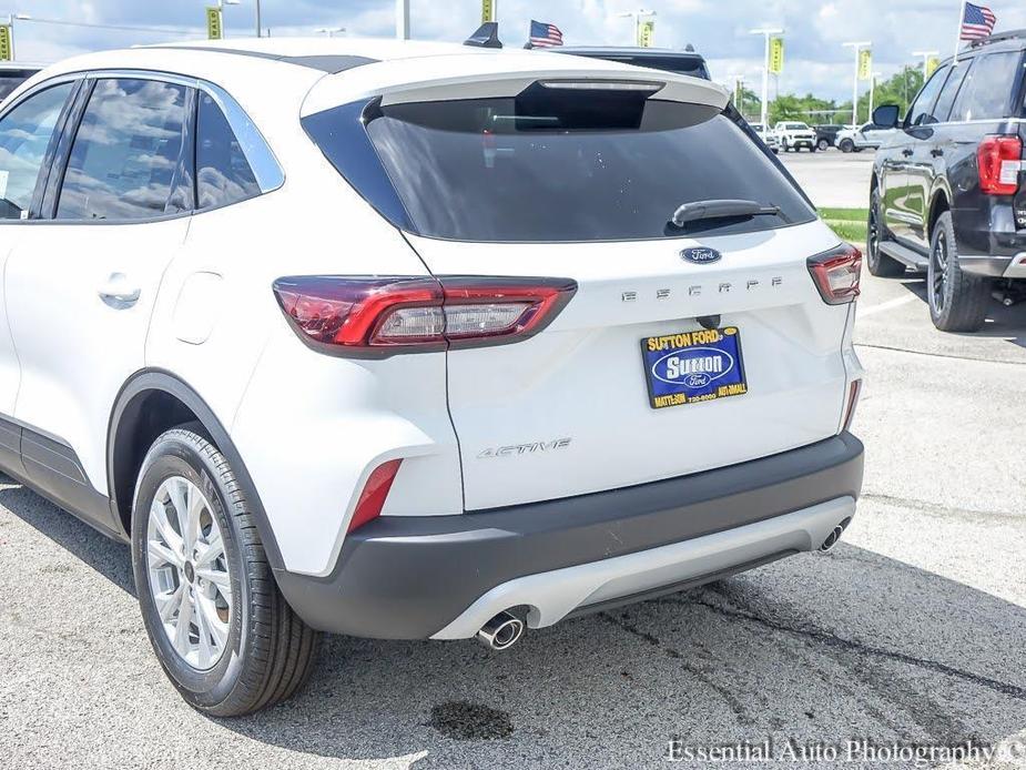
{"label": "dark tinted rear windshield of the white Ford Escape", "polygon": [[[508,99],[389,105],[364,120],[408,217],[397,224],[428,237],[647,240],[693,229],[753,232],[815,217],[730,118],[647,95],[567,90],[556,98],[529,89]],[[345,132],[326,115],[306,123],[307,131],[374,203],[366,164],[341,156]],[[669,224],[680,205],[711,199],[753,200],[778,206],[780,215],[697,222],[688,231]]]}

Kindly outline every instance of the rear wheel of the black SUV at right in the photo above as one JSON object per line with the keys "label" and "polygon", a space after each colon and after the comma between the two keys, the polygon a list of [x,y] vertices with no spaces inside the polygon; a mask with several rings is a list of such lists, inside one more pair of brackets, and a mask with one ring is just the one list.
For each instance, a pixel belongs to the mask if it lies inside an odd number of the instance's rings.
{"label": "rear wheel of the black SUV at right", "polygon": [[926,297],[930,317],[942,332],[976,332],[986,321],[991,280],[962,270],[949,211],[937,219],[930,239]]}

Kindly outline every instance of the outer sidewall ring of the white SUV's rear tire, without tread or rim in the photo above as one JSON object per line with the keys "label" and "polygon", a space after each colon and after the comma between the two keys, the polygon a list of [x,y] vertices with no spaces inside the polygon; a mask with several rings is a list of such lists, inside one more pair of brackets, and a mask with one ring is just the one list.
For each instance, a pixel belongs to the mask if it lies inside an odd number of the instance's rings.
{"label": "outer sidewall ring of the white SUV's rear tire, without tread or rim", "polygon": [[[238,538],[226,515],[228,508],[225,490],[214,480],[219,477],[217,469],[209,457],[199,452],[202,444],[203,439],[195,434],[179,430],[159,438],[146,455],[132,511],[132,565],[143,622],[158,660],[187,701],[201,707],[213,707],[231,696],[244,669],[250,625],[250,586],[242,579],[245,568]],[[192,668],[174,650],[158,616],[150,587],[146,554],[150,506],[158,488],[170,476],[189,479],[206,496],[211,515],[221,528],[225,559],[231,570],[233,606],[228,640],[221,660],[207,671]]]}

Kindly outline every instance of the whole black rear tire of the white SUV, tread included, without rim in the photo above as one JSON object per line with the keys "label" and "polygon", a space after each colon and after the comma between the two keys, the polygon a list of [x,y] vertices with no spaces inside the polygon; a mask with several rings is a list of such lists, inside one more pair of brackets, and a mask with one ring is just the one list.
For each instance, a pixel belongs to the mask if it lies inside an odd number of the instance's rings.
{"label": "whole black rear tire of the white SUV, tread included, without rim", "polygon": [[[143,460],[132,514],[135,589],[150,642],[181,696],[204,713],[237,717],[292,697],[313,670],[319,639],[281,595],[245,492],[224,456],[201,433],[199,424],[169,430]],[[224,652],[209,670],[194,668],[175,651],[150,586],[150,510],[161,485],[172,477],[203,493],[224,544],[233,600]]]}

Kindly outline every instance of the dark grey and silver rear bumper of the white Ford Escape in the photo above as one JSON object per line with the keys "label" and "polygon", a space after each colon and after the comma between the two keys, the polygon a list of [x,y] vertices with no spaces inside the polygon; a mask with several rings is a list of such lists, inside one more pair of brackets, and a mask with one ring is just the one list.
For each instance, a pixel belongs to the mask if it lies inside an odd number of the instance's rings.
{"label": "dark grey and silver rear bumper of the white Ford Escape", "polygon": [[473,636],[496,612],[547,626],[813,550],[854,513],[863,447],[842,434],[728,468],[460,516],[386,516],[349,535],[326,578],[277,571],[315,628]]}

